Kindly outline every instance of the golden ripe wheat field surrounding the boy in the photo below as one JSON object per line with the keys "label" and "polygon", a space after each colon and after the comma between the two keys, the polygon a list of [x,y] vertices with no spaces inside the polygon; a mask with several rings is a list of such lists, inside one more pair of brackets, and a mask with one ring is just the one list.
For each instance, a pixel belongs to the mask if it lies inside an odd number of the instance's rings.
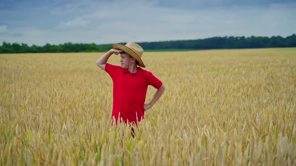
{"label": "golden ripe wheat field surrounding the boy", "polygon": [[296,164],[295,50],[144,52],[166,90],[134,138],[101,55],[0,54],[1,165]]}

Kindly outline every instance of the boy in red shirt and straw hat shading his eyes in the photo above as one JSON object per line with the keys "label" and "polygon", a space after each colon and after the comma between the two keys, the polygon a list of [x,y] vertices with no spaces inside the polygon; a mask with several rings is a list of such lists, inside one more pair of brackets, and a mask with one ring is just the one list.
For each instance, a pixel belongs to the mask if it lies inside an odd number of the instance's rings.
{"label": "boy in red shirt and straw hat shading his eyes", "polygon": [[[144,50],[140,45],[129,41],[125,45],[112,46],[112,49],[96,61],[113,80],[112,119],[114,116],[116,124],[121,118],[125,123],[137,124],[137,120],[144,117],[144,111],[150,109],[161,97],[165,86],[152,72],[141,68],[145,65],[141,59]],[[121,67],[107,63],[113,53],[120,54]],[[154,86],[157,91],[149,103],[144,103],[148,85]]]}

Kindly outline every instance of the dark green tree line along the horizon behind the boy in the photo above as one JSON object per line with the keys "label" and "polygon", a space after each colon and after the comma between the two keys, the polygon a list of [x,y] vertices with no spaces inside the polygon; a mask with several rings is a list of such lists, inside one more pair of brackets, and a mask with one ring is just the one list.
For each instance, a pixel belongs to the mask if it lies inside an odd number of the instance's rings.
{"label": "dark green tree line along the horizon behind the boy", "polygon": [[[125,44],[125,43],[121,43]],[[173,40],[138,42],[144,50],[155,49],[230,49],[230,48],[268,48],[268,47],[296,47],[296,34],[287,37],[272,36],[224,36],[193,40]],[[112,44],[71,43],[44,46],[25,43],[3,42],[0,53],[29,53],[29,52],[105,52],[112,48]]]}

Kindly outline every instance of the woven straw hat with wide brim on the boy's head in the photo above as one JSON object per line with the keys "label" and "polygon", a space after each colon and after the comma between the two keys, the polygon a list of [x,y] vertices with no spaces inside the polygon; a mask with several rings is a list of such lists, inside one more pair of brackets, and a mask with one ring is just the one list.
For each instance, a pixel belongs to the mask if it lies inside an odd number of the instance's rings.
{"label": "woven straw hat with wide brim on the boy's head", "polygon": [[143,48],[133,41],[128,41],[125,45],[113,44],[113,48],[123,50],[138,61],[140,67],[145,67],[141,57],[144,52]]}

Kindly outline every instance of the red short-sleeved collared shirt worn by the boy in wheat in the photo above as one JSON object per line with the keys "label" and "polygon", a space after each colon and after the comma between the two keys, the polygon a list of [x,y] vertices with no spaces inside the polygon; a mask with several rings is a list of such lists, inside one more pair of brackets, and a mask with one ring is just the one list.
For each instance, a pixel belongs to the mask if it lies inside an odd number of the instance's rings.
{"label": "red short-sleeved collared shirt worn by the boy in wheat", "polygon": [[126,68],[106,63],[105,70],[113,80],[112,117],[115,117],[117,123],[120,113],[120,118],[124,122],[128,120],[128,122],[136,124],[136,119],[140,121],[144,116],[144,102],[148,85],[160,88],[163,84],[162,81],[152,72],[140,67],[135,73],[130,73]]}

